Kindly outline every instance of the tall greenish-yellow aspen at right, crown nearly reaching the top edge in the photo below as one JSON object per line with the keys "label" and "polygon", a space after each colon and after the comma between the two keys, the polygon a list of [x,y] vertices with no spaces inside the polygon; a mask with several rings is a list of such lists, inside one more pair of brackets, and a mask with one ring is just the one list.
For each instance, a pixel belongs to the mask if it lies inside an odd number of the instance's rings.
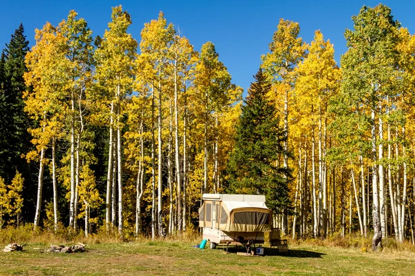
{"label": "tall greenish-yellow aspen at right, crown nearly reaching the top edge", "polygon": [[[396,93],[390,87],[390,79],[396,74],[397,55],[394,45],[398,42],[399,23],[392,18],[391,10],[381,4],[375,8],[363,6],[360,13],[352,19],[354,30],[346,30],[344,33],[349,50],[341,59],[344,76],[342,97],[349,97],[353,106],[365,106],[370,110],[370,114],[365,114],[365,117],[370,122],[371,138],[368,142],[371,145],[374,225],[372,248],[376,250],[382,245],[381,223],[384,219],[381,219],[381,215],[385,213],[385,206],[382,205],[382,200],[379,201],[379,191],[384,191],[384,187],[378,186],[378,177],[383,177],[383,174],[378,173],[376,120],[383,114],[379,108],[380,103],[387,95]],[[379,184],[383,183],[382,179]],[[382,198],[384,195],[380,195]]]}

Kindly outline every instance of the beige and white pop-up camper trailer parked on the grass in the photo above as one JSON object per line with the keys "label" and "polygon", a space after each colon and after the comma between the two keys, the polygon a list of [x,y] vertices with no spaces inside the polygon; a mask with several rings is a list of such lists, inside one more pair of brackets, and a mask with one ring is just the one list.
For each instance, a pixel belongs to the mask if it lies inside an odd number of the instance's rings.
{"label": "beige and white pop-up camper trailer parked on the grass", "polygon": [[203,194],[199,226],[211,248],[232,242],[264,244],[264,233],[270,232],[272,217],[264,195]]}

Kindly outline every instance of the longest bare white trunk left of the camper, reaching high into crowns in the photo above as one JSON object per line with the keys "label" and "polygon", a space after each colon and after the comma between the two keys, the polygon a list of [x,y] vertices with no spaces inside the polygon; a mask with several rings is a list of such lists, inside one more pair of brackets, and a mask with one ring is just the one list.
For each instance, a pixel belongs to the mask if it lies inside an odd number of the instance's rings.
{"label": "longest bare white trunk left of the camper, reaching high into crowns", "polygon": [[178,87],[177,87],[177,52],[176,59],[174,59],[174,152],[175,152],[175,161],[176,161],[176,184],[177,184],[177,230],[180,235],[183,228],[183,215],[182,215],[182,183],[181,183],[181,168],[180,168],[180,148],[179,138],[178,138]]}

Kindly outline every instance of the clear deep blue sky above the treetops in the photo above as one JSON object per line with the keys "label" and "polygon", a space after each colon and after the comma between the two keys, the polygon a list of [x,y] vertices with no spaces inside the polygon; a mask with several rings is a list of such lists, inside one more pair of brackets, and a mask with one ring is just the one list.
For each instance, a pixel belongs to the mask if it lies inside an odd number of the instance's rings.
{"label": "clear deep blue sky above the treetops", "polygon": [[[34,42],[35,28],[42,28],[46,21],[57,25],[66,19],[69,10],[76,10],[86,19],[94,37],[102,35],[111,21],[111,7],[122,5],[131,14],[133,24],[129,32],[139,42],[144,23],[157,19],[163,11],[168,22],[180,28],[196,50],[203,43],[212,41],[219,52],[219,59],[228,67],[233,82],[245,92],[261,63],[261,55],[268,52],[273,32],[280,18],[297,21],[300,36],[310,43],[315,30],[321,30],[335,48],[335,59],[346,52],[344,30],[353,28],[351,16],[358,14],[363,5],[376,6],[380,1],[362,0],[1,0],[0,48],[10,41],[10,35],[24,24],[30,46]],[[410,33],[415,32],[415,1],[382,1],[392,9]]]}

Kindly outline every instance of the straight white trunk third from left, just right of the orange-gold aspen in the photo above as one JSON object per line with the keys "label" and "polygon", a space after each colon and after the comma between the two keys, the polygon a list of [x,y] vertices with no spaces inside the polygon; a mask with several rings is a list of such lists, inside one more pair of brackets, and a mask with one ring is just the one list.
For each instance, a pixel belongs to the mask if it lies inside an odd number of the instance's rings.
{"label": "straight white trunk third from left, just right of the orange-gold aspen", "polygon": [[74,226],[75,219],[75,99],[71,94],[71,199],[69,204],[69,226]]}

